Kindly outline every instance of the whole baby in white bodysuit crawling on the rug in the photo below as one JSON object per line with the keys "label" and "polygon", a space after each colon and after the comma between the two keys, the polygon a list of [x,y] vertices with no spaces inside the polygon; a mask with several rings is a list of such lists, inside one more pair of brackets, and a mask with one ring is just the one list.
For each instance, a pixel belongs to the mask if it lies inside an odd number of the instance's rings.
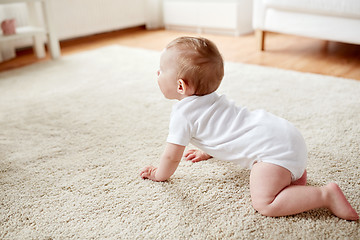
{"label": "whole baby in white bodysuit crawling on the rug", "polygon": [[[253,207],[265,216],[286,216],[328,208],[339,218],[359,219],[336,183],[306,185],[307,149],[288,121],[263,110],[235,106],[215,91],[224,64],[214,43],[180,37],[168,44],[160,59],[158,84],[173,106],[169,135],[159,167],[145,167],[140,176],[165,181],[184,156],[199,162],[211,157],[251,169]],[[192,143],[201,150],[185,147]]]}

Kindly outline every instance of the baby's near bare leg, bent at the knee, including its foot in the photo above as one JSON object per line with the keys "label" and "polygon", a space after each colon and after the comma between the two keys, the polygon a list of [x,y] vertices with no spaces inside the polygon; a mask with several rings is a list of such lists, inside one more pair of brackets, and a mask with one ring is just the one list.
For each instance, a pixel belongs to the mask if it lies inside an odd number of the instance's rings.
{"label": "baby's near bare leg, bent at the knee, including its foot", "polygon": [[291,185],[291,173],[271,163],[256,163],[250,174],[254,208],[265,216],[286,216],[326,207],[336,216],[359,219],[335,183],[323,187]]}

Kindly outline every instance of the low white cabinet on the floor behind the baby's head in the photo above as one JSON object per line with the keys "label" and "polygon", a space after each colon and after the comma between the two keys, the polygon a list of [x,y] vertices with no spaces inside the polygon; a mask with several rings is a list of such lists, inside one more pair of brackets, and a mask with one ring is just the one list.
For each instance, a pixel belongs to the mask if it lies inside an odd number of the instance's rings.
{"label": "low white cabinet on the floor behind the baby's head", "polygon": [[166,29],[240,35],[252,32],[252,0],[164,0]]}

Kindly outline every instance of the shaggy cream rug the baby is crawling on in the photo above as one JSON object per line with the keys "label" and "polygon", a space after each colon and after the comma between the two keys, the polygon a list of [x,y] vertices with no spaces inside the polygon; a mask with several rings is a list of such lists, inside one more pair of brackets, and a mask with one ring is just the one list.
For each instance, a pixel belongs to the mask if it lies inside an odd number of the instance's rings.
{"label": "shaggy cream rug the baby is crawling on", "polygon": [[[359,239],[327,210],[263,217],[249,171],[156,165],[174,102],[159,52],[109,46],[0,74],[1,239]],[[360,211],[360,82],[226,63],[219,93],[292,121],[309,148],[308,184],[337,182]]]}

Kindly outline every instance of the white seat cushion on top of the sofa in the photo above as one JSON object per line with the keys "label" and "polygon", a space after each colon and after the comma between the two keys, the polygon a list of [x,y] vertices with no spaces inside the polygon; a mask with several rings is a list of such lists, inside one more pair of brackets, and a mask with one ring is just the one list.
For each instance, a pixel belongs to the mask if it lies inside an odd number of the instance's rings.
{"label": "white seat cushion on top of the sofa", "polygon": [[360,0],[264,0],[266,7],[310,14],[360,18]]}

